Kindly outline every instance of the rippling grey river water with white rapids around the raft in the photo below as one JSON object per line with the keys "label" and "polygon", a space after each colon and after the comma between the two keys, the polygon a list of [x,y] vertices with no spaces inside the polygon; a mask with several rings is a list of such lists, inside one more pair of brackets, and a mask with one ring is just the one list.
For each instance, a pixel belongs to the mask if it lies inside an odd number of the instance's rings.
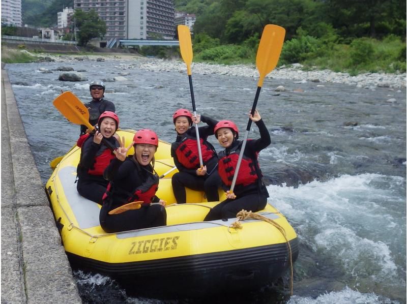
{"label": "rippling grey river water with white rapids around the raft", "polygon": [[[6,65],[44,184],[51,174],[49,162],[64,155],[79,134],[79,127],[52,106],[61,90],[71,90],[85,102],[90,100],[89,81],[106,79],[105,97],[114,102],[122,129],[150,128],[163,140],[175,140],[173,111],[191,109],[187,74],[134,68],[126,70],[128,81],[110,81],[123,72],[119,64],[85,60]],[[60,72],[39,72],[40,67],[59,66],[85,70],[89,81],[62,82],[57,80]],[[257,79],[194,73],[192,79],[197,112],[234,120],[243,134]],[[275,92],[278,85],[285,92]],[[405,88],[265,80],[257,109],[272,144],[259,158],[270,183],[269,202],[300,239],[294,295],[287,293],[287,273],[261,293],[212,302],[405,303],[405,101]],[[258,137],[254,124],[249,137]],[[220,150],[216,140],[211,142]],[[136,288],[124,289],[98,273],[74,273],[84,302],[162,302],[138,297]]]}

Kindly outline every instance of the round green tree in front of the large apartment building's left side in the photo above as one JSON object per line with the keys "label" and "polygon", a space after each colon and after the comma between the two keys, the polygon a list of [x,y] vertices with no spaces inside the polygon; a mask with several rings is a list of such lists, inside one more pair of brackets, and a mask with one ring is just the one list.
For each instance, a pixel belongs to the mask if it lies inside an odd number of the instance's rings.
{"label": "round green tree in front of the large apartment building's left side", "polygon": [[79,31],[76,33],[78,45],[85,46],[93,38],[103,38],[106,35],[106,23],[98,16],[95,10],[83,12],[75,10],[73,15],[76,27]]}

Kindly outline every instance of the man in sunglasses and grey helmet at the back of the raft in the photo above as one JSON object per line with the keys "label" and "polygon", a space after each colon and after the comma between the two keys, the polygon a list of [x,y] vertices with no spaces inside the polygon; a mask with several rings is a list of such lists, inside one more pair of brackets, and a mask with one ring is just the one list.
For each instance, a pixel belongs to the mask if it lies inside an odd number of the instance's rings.
{"label": "man in sunglasses and grey helmet at the back of the raft", "polygon": [[[92,81],[89,85],[92,100],[86,103],[85,106],[89,110],[89,123],[95,126],[98,123],[99,116],[104,111],[115,112],[114,104],[107,99],[104,99],[105,84],[103,81]],[[85,125],[80,126],[80,136],[86,134],[88,128]]]}

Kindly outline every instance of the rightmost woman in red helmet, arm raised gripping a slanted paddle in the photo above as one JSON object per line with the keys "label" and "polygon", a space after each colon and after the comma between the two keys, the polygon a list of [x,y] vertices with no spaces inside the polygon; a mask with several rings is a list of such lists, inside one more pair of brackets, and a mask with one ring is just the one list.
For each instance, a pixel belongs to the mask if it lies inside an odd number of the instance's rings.
{"label": "rightmost woman in red helmet, arm raised gripping a slanted paddle", "polygon": [[[257,156],[260,150],[271,143],[270,134],[257,110],[253,116],[249,114],[249,117],[257,125],[260,138],[246,143],[234,193],[227,191],[226,200],[213,207],[204,221],[236,218],[236,214],[242,209],[256,212],[264,209],[267,204],[269,193],[263,183]],[[225,148],[218,154],[218,171],[224,188],[229,189],[243,141],[238,140],[238,127],[230,120],[219,121],[214,132],[220,145]]]}

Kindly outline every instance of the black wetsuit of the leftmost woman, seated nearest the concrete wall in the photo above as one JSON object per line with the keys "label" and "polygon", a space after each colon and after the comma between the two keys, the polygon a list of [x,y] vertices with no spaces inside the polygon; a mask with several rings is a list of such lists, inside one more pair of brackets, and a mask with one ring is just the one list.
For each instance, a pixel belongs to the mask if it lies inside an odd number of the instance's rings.
{"label": "black wetsuit of the leftmost woman, seated nearest the concrete wall", "polygon": [[[81,147],[80,162],[77,168],[78,184],[76,189],[78,193],[91,201],[102,204],[103,194],[106,192],[107,184],[109,183],[103,178],[103,175],[89,174],[89,169],[95,166],[95,158],[102,153],[103,150],[108,149],[103,142],[100,144],[93,142],[93,135],[90,135]],[[105,138],[113,146],[119,147],[118,141],[114,137]],[[114,158],[113,154],[112,159]],[[104,165],[106,168],[108,164]]]}

